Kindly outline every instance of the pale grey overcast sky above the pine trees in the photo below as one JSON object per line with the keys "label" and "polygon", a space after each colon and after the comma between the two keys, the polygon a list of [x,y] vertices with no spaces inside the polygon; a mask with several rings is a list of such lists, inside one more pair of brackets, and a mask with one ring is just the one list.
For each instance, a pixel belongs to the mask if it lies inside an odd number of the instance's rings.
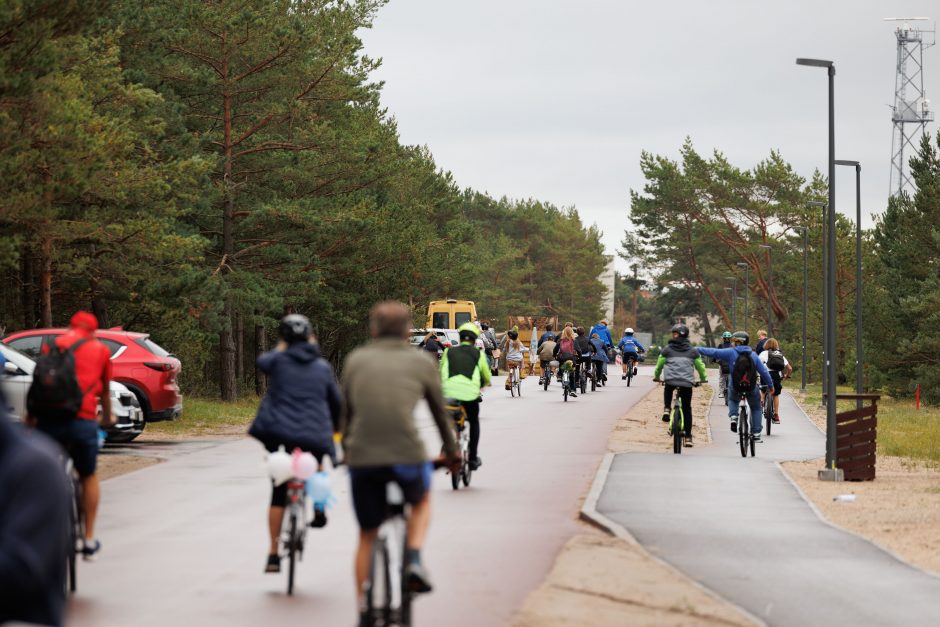
{"label": "pale grey overcast sky above the pine trees", "polygon": [[[391,0],[362,37],[404,143],[461,187],[576,206],[614,252],[642,150],[676,157],[690,136],[742,168],[777,149],[803,176],[825,171],[826,72],[798,56],[836,63],[836,157],[862,162],[870,224],[891,158],[896,39],[882,18],[907,16],[933,28],[940,3]],[[924,66],[940,109],[940,48]],[[854,218],[854,172],[837,174]]]}

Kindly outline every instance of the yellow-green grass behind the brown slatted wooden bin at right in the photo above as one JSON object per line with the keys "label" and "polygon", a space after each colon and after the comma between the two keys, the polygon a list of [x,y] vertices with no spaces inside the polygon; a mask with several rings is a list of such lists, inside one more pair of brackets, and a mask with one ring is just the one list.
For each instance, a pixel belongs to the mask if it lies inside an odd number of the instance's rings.
{"label": "yellow-green grass behind the brown slatted wooden bin at right", "polygon": [[[793,390],[792,385],[788,387]],[[796,389],[799,390],[799,384]],[[840,386],[838,392],[851,394],[854,389]],[[806,406],[818,407],[821,400],[821,385],[806,386]],[[837,408],[846,411],[854,406],[855,401],[839,401]],[[918,410],[913,399],[883,395],[878,401],[878,454],[940,465],[940,408],[921,404]]]}

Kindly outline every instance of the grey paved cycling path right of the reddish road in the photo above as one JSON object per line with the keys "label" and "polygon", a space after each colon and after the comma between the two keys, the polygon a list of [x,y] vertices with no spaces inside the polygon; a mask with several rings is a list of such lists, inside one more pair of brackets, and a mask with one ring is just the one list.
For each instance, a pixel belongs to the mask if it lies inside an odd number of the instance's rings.
{"label": "grey paved cycling path right of the reddish road", "polygon": [[715,401],[711,446],[617,455],[597,510],[768,625],[940,625],[940,578],[820,520],[774,463],[825,453],[789,395],[747,459]]}

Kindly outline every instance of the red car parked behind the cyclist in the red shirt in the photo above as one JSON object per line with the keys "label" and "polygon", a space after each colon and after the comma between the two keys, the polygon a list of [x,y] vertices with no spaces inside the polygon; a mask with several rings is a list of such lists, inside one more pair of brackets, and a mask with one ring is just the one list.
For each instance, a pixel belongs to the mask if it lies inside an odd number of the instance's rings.
{"label": "red car parked behind the cyclist in the red shirt", "polygon": [[[43,342],[49,342],[65,329],[30,329],[11,333],[3,343],[39,356]],[[147,422],[173,420],[183,411],[183,395],[177,384],[180,360],[161,348],[146,333],[131,333],[120,328],[101,329],[97,337],[111,351],[113,377],[126,385],[140,401]]]}

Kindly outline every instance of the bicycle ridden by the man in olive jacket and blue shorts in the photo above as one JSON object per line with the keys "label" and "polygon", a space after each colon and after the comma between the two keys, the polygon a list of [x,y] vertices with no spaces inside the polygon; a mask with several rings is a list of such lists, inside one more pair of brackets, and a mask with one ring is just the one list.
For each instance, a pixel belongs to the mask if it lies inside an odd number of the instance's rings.
{"label": "bicycle ridden by the man in olive jacket and blue shorts", "polygon": [[[442,466],[440,460],[435,460],[435,468]],[[408,589],[405,577],[409,510],[401,487],[395,481],[385,486],[385,502],[385,520],[372,544],[369,576],[365,581],[366,608],[360,624],[411,627],[411,603],[415,593]]]}

